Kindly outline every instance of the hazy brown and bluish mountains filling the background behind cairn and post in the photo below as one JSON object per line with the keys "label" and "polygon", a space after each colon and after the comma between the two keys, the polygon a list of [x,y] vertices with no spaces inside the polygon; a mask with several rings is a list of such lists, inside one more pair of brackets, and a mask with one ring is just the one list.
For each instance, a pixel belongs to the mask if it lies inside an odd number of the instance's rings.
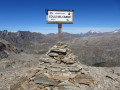
{"label": "hazy brown and bluish mountains filling the background behind cairn and post", "polygon": [[[20,51],[40,55],[57,43],[58,35],[3,30],[0,31],[0,38],[10,42]],[[120,29],[104,33],[93,30],[81,34],[63,32],[62,42],[68,44],[79,60],[87,65],[116,66],[120,63]]]}

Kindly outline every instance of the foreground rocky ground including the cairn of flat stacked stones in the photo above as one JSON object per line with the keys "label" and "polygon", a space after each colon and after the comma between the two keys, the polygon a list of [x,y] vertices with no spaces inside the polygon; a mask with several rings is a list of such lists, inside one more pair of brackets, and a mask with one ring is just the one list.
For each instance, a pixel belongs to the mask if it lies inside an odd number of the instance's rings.
{"label": "foreground rocky ground including the cairn of flat stacked stones", "polygon": [[32,67],[1,71],[0,90],[120,90],[119,67],[83,65],[62,43],[53,46],[47,55],[21,53],[16,59],[25,57]]}

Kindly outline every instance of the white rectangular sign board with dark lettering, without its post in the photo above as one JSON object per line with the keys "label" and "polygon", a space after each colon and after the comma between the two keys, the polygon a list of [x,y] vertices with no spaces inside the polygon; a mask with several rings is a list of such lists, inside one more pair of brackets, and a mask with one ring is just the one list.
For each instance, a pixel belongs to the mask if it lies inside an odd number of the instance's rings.
{"label": "white rectangular sign board with dark lettering, without its post", "polygon": [[47,23],[73,23],[73,10],[48,10]]}

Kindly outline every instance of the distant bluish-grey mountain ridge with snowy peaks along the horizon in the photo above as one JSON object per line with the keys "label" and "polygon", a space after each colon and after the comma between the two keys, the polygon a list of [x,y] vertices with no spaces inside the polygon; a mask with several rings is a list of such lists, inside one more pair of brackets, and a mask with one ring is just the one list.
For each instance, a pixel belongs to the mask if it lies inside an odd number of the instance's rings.
{"label": "distant bluish-grey mountain ridge with snowy peaks along the horizon", "polygon": [[[80,37],[87,37],[91,35],[105,35],[105,34],[119,34],[120,30],[116,29],[112,32],[98,32],[94,30],[90,30],[86,33],[81,34],[71,34],[67,32],[62,33],[62,39],[63,40],[71,40],[73,38],[80,38]],[[41,34],[37,32],[30,32],[30,31],[16,31],[16,32],[10,32],[8,30],[0,31],[0,38],[3,38],[9,42],[11,42],[13,45],[18,46],[17,43],[45,43],[45,42],[56,42],[57,41],[57,34],[50,33],[50,34]]]}

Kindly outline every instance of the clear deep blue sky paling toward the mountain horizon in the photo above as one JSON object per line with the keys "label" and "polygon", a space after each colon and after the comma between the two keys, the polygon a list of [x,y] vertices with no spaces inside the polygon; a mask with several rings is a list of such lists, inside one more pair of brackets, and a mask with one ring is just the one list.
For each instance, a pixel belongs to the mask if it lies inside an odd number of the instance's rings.
{"label": "clear deep blue sky paling toward the mountain horizon", "polygon": [[120,0],[0,0],[0,30],[56,33],[57,24],[46,24],[45,9],[72,9],[74,24],[63,32],[109,32],[120,28]]}

